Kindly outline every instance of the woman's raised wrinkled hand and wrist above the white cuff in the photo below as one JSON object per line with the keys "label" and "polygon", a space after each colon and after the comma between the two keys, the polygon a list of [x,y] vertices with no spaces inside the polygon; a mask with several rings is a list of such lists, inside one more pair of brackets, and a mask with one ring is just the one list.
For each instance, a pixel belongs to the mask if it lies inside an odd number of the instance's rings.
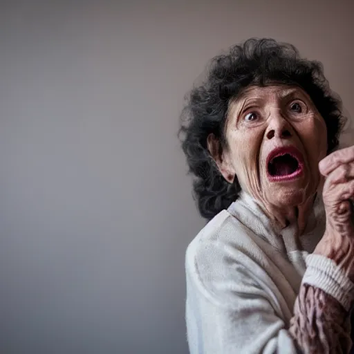
{"label": "woman's raised wrinkled hand and wrist above the white cuff", "polygon": [[314,253],[333,259],[354,281],[354,146],[326,156],[319,171],[326,177],[326,231]]}

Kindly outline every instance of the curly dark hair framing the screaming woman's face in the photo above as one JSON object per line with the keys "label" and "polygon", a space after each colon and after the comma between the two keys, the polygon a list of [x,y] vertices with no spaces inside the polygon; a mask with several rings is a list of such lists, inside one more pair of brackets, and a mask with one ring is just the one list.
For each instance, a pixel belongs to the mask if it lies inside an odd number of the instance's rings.
{"label": "curly dark hair framing the screaming woman's face", "polygon": [[214,133],[221,151],[227,148],[225,118],[229,102],[245,87],[270,84],[301,87],[326,122],[327,153],[339,144],[339,133],[346,122],[342,102],[330,91],[322,63],[302,59],[295,46],[274,39],[248,39],[232,46],[225,55],[214,57],[205,76],[203,84],[187,95],[179,136],[189,173],[194,175],[194,198],[207,220],[229,207],[241,190],[236,176],[230,184],[218,171],[207,149],[207,136]]}

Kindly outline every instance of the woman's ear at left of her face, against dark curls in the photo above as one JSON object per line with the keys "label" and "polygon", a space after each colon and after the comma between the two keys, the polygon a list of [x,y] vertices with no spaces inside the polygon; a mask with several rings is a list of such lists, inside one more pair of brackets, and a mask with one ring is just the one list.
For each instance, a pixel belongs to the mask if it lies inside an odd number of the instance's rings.
{"label": "woman's ear at left of her face, against dark curls", "polygon": [[234,168],[232,167],[227,153],[222,151],[220,142],[214,133],[210,133],[209,136],[207,136],[207,149],[216,163],[218,170],[223,175],[223,178],[225,178],[228,183],[233,183],[235,176]]}

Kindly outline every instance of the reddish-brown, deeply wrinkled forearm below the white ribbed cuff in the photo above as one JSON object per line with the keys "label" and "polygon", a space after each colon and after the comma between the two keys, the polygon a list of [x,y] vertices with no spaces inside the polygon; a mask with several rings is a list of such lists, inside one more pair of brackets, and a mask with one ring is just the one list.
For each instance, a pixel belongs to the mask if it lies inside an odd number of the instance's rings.
{"label": "reddish-brown, deeply wrinkled forearm below the white ribbed cuff", "polygon": [[337,299],[304,283],[295,302],[290,335],[303,353],[349,353],[348,317]]}

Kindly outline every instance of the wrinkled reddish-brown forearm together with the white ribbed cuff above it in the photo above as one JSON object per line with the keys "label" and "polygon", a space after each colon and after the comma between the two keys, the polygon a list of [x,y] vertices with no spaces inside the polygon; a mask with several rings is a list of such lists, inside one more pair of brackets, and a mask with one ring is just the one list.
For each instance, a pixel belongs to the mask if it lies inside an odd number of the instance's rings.
{"label": "wrinkled reddish-brown forearm together with the white ribbed cuff above it", "polygon": [[306,264],[290,334],[303,353],[348,353],[354,284],[326,257],[310,255]]}

